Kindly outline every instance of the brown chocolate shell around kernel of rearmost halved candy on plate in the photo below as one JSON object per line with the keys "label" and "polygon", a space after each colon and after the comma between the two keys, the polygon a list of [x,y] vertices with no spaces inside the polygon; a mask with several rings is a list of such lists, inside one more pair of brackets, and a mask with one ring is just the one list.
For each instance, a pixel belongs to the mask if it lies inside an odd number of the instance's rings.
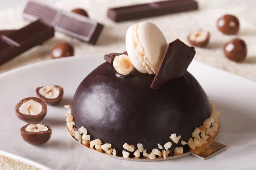
{"label": "brown chocolate shell around kernel of rearmost halved candy on plate", "polygon": [[63,98],[63,95],[64,95],[64,90],[61,86],[58,86],[58,85],[54,85],[55,87],[58,87],[59,91],[60,91],[60,94],[57,98],[55,99],[47,99],[45,98],[44,96],[42,96],[40,93],[39,93],[39,90],[41,88],[43,88],[44,86],[42,87],[38,87],[36,88],[35,92],[36,92],[36,95],[38,96],[39,99],[43,100],[44,102],[46,102],[48,105],[58,105],[59,102],[61,102],[61,99]]}

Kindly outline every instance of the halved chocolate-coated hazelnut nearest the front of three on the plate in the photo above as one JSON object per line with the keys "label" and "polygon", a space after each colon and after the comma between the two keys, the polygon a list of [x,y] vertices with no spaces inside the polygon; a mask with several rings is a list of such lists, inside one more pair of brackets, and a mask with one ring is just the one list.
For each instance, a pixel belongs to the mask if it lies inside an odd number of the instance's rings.
{"label": "halved chocolate-coated hazelnut nearest the front of three on the plate", "polygon": [[39,146],[49,141],[52,128],[39,122],[31,122],[20,128],[20,134],[25,142]]}

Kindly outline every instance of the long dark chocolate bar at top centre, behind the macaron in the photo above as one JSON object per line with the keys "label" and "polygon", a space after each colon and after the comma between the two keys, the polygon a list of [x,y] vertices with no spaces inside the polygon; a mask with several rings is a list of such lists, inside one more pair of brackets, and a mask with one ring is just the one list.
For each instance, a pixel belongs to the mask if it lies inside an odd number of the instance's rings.
{"label": "long dark chocolate bar at top centre, behind the macaron", "polygon": [[195,9],[198,9],[198,3],[195,0],[164,0],[154,3],[110,8],[108,9],[108,17],[115,22],[120,22]]}

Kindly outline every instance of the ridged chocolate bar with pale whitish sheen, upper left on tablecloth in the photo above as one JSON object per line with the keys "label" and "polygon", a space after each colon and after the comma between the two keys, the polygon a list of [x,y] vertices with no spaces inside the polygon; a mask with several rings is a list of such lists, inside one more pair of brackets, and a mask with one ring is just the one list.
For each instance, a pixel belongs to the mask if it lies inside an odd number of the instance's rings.
{"label": "ridged chocolate bar with pale whitish sheen, upper left on tablecloth", "polygon": [[35,1],[28,2],[23,11],[23,17],[31,21],[43,20],[54,27],[56,31],[93,45],[96,44],[103,28],[102,24],[90,20],[88,17],[74,12],[58,10]]}

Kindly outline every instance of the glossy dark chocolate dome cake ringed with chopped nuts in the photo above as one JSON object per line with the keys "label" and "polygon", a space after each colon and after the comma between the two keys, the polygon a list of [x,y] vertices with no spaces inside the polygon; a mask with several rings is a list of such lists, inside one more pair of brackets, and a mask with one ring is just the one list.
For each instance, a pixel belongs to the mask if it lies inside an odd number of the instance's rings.
{"label": "glossy dark chocolate dome cake ringed with chopped nuts", "polygon": [[[127,50],[128,54],[105,55],[107,62],[77,88],[72,107],[65,106],[67,128],[74,139],[113,156],[166,159],[195,150],[216,135],[219,111],[186,71],[195,55],[193,47],[178,39],[166,43],[158,66],[150,63],[150,51],[145,52],[140,57],[147,57],[143,59],[149,67],[142,62],[144,70],[134,61],[136,56],[132,59],[137,54]],[[157,70],[150,69],[152,65]]]}

